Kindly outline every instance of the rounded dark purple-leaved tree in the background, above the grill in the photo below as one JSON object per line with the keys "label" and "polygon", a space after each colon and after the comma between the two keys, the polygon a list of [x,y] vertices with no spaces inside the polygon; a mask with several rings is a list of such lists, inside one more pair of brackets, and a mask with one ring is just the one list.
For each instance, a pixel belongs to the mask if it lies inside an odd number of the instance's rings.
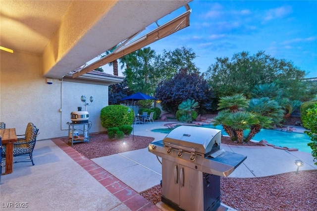
{"label": "rounded dark purple-leaved tree in the background, above the grill", "polygon": [[188,73],[181,69],[172,79],[161,81],[155,92],[164,110],[176,113],[178,105],[187,99],[195,100],[200,111],[211,109],[213,91],[199,73]]}

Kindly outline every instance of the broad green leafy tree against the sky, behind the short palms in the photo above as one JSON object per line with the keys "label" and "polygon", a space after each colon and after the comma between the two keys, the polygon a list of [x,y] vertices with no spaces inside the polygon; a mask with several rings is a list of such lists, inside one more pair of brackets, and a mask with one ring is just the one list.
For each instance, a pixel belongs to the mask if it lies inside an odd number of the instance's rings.
{"label": "broad green leafy tree against the sky, behind the short palms", "polygon": [[302,86],[299,84],[302,84],[300,82],[305,75],[306,72],[294,66],[292,62],[276,59],[264,51],[254,55],[248,52],[236,53],[231,60],[228,57],[217,57],[216,62],[206,72],[207,80],[217,97],[243,93],[249,98],[253,87],[272,82],[292,90],[289,95],[299,97],[301,94],[295,93],[302,92],[297,88]]}

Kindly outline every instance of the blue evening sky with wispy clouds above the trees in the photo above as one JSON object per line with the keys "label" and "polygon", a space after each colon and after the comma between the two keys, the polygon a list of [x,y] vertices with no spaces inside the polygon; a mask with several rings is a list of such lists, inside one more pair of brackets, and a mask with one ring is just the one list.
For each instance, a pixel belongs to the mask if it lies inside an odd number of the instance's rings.
{"label": "blue evening sky with wispy clouds above the trees", "polygon": [[[156,53],[191,48],[201,72],[216,57],[265,51],[310,72],[307,78],[317,77],[317,1],[194,0],[189,6],[190,26],[148,47]],[[158,23],[184,11],[182,7]],[[152,24],[144,33],[156,27]]]}

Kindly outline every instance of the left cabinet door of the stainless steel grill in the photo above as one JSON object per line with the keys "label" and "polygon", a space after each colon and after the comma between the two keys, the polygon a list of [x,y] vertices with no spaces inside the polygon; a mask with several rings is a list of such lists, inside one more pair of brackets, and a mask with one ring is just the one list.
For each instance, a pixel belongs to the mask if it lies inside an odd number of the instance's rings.
{"label": "left cabinet door of the stainless steel grill", "polygon": [[162,159],[162,195],[179,205],[179,166]]}

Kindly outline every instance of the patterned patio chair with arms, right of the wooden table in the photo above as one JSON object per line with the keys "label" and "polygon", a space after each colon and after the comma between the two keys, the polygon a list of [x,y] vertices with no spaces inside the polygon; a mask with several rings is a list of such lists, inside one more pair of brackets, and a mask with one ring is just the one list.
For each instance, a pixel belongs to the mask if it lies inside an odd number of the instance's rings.
{"label": "patterned patio chair with arms, right of the wooden table", "polygon": [[[36,143],[36,137],[38,135],[39,129],[34,126],[32,122],[28,123],[28,126],[26,127],[25,131],[25,137],[19,138],[17,142],[13,143],[13,157],[17,156],[30,156],[31,160],[27,161],[15,161],[16,162],[32,162],[32,165],[34,165],[33,162],[33,150]],[[2,156],[5,156],[5,147],[2,149]]]}

